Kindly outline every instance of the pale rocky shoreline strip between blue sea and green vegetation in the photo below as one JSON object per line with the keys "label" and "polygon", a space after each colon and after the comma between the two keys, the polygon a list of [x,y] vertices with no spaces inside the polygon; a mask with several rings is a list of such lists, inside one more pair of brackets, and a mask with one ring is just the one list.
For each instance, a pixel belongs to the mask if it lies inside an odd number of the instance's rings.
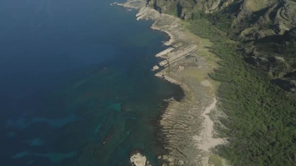
{"label": "pale rocky shoreline strip between blue sea and green vegetation", "polygon": [[160,125],[168,154],[158,159],[163,166],[211,166],[211,156],[215,155],[212,149],[226,143],[214,131],[217,83],[208,73],[217,67],[219,59],[207,49],[211,43],[186,31],[179,18],[149,8],[146,0],[117,5],[137,9],[137,20],[152,19],[151,28],[169,36],[164,44],[170,47],[156,55],[163,61],[151,70],[157,72],[155,76],[180,85],[185,93],[180,101],[167,101]]}

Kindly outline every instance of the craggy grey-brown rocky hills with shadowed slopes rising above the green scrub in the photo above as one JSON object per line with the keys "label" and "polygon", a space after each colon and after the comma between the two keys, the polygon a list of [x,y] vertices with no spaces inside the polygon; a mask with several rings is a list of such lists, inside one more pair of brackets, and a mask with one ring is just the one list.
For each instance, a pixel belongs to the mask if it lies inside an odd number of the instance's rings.
{"label": "craggy grey-brown rocky hills with shadowed slopes rising above the green scrub", "polygon": [[[245,49],[256,49],[248,52],[246,59],[256,65],[260,62],[254,61],[264,58],[260,66],[274,79],[296,69],[296,0],[148,0],[148,4],[160,13],[185,20],[204,18],[228,38],[252,43],[253,47]],[[290,81],[291,88],[275,83],[295,91],[295,82]]]}

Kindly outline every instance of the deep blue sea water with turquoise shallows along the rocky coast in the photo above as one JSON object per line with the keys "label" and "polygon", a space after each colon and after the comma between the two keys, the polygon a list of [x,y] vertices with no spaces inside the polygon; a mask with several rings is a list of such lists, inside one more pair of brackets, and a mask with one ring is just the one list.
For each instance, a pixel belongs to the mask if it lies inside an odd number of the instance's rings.
{"label": "deep blue sea water with turquoise shallows along the rocky coast", "polygon": [[166,34],[113,2],[0,0],[1,166],[157,165],[160,105],[182,91],[150,71]]}

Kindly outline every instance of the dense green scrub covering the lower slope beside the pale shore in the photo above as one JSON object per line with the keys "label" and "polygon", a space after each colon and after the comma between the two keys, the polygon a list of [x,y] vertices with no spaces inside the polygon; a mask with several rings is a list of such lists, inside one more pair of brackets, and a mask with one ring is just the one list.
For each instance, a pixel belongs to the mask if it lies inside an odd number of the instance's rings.
{"label": "dense green scrub covering the lower slope beside the pale shore", "polygon": [[[219,17],[219,16],[216,16]],[[231,41],[222,21],[199,17],[187,20],[187,29],[214,42],[212,52],[222,61],[210,77],[218,89],[221,118],[229,130],[229,144],[217,153],[236,166],[293,166],[296,163],[296,94],[271,83],[271,76],[244,61],[240,51],[250,43]],[[295,54],[294,54],[295,59]],[[218,125],[216,128],[220,128]]]}

